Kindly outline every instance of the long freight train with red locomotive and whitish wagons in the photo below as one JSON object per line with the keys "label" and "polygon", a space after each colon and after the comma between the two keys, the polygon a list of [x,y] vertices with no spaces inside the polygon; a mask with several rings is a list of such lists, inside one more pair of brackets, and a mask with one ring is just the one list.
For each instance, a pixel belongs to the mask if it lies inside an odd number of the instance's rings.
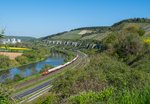
{"label": "long freight train with red locomotive and whitish wagons", "polygon": [[50,73],[52,73],[52,72],[54,72],[54,71],[60,70],[60,69],[62,69],[62,68],[64,68],[64,67],[70,65],[70,64],[73,63],[74,61],[76,61],[76,60],[78,59],[78,57],[79,57],[79,55],[77,55],[73,60],[71,60],[71,61],[69,61],[69,62],[67,62],[67,63],[65,63],[65,64],[63,64],[63,65],[59,65],[59,66],[54,67],[54,68],[52,68],[52,69],[46,70],[46,71],[44,71],[44,72],[42,73],[42,75],[48,75],[48,74],[50,74]]}

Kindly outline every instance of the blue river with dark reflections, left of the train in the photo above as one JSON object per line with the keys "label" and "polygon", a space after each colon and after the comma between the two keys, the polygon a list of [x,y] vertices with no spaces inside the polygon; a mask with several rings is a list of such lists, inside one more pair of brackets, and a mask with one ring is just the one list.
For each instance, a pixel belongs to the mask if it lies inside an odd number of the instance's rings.
{"label": "blue river with dark reflections, left of the train", "polygon": [[45,65],[52,65],[53,67],[59,66],[64,63],[65,57],[62,54],[52,54],[47,59],[21,67],[15,67],[7,71],[0,72],[0,82],[6,80],[13,80],[16,75],[22,78],[29,77],[39,73]]}

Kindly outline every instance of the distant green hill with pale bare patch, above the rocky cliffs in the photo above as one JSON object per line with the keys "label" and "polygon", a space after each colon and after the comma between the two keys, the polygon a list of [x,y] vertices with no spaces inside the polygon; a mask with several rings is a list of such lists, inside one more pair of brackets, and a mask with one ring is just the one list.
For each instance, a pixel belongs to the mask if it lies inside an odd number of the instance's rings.
{"label": "distant green hill with pale bare patch, above the rocky cliffs", "polygon": [[43,39],[59,39],[59,40],[100,40],[105,37],[108,33],[110,33],[109,27],[86,27],[86,28],[78,28],[68,32],[63,32],[59,34],[53,34],[47,36]]}

